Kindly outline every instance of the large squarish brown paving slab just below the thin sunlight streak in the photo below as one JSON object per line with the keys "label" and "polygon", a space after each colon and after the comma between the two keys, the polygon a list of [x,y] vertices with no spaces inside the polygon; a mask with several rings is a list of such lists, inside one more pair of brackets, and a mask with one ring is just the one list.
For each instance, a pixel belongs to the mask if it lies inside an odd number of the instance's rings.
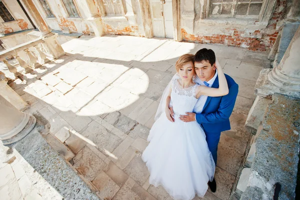
{"label": "large squarish brown paving slab just below the thin sunlight streak", "polygon": [[95,153],[93,153],[87,146],[81,149],[73,158],[74,167],[87,180],[93,180],[97,174],[106,166]]}

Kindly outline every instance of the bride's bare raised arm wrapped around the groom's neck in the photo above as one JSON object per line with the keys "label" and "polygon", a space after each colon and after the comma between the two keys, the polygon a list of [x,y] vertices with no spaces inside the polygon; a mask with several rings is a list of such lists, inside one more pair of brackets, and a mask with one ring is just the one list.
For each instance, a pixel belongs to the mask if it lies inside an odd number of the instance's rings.
{"label": "bride's bare raised arm wrapped around the groom's neck", "polygon": [[209,96],[209,97],[219,97],[219,96],[224,96],[224,95],[228,94],[229,90],[228,90],[227,81],[226,81],[225,75],[223,73],[222,67],[220,66],[217,59],[215,60],[215,66],[217,69],[219,87],[218,88],[209,88],[209,87],[200,85],[197,87],[196,98],[199,98],[201,95],[205,95],[205,96]]}

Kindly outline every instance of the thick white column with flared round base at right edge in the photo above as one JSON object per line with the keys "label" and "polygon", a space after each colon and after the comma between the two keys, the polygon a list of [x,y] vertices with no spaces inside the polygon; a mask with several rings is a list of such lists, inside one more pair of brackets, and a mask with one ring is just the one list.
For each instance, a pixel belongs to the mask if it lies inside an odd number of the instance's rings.
{"label": "thick white column with flared round base at right edge", "polygon": [[300,92],[300,26],[289,43],[280,63],[268,74],[274,85],[286,91]]}

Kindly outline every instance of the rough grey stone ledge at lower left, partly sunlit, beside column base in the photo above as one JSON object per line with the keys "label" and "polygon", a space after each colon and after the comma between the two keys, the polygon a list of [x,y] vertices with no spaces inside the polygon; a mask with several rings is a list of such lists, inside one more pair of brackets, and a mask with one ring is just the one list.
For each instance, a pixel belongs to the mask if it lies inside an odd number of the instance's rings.
{"label": "rough grey stone ledge at lower left, partly sunlit, beside column base", "polygon": [[[39,122],[40,120],[37,120]],[[37,126],[10,147],[17,152],[22,168],[43,199],[99,199],[80,176],[40,134]],[[27,191],[26,191],[27,192]]]}

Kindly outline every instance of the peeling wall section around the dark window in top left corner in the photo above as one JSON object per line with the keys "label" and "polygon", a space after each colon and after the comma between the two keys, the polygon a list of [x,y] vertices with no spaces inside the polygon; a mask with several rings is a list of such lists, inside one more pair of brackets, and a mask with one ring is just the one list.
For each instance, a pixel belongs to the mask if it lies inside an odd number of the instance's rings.
{"label": "peeling wall section around the dark window in top left corner", "polygon": [[16,0],[5,0],[2,1],[2,3],[9,11],[14,21],[4,22],[0,18],[1,35],[23,31],[27,29],[33,29],[30,21],[28,20],[28,18],[26,17],[25,13],[22,11],[21,7],[18,5]]}

